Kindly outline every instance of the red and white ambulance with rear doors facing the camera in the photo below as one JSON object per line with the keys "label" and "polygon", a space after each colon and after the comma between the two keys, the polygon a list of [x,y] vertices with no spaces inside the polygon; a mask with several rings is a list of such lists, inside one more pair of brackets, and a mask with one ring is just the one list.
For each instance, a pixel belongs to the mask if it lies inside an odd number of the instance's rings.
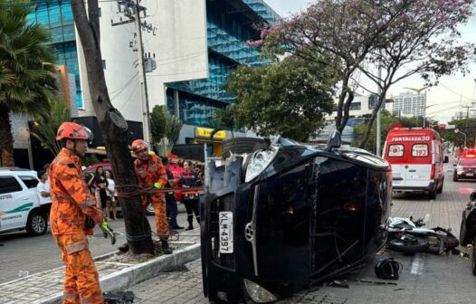
{"label": "red and white ambulance with rear doors facing the camera", "polygon": [[443,192],[443,141],[433,128],[393,128],[386,136],[383,157],[392,166],[394,192]]}

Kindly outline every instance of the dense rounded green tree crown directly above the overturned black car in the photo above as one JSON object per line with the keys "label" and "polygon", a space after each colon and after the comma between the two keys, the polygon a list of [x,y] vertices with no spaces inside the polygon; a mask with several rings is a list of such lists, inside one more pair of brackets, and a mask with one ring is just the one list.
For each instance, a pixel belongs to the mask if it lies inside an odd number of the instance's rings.
{"label": "dense rounded green tree crown directly above the overturned black car", "polygon": [[228,110],[236,127],[305,141],[332,111],[335,84],[328,66],[295,56],[259,68],[240,66],[225,86],[237,100]]}

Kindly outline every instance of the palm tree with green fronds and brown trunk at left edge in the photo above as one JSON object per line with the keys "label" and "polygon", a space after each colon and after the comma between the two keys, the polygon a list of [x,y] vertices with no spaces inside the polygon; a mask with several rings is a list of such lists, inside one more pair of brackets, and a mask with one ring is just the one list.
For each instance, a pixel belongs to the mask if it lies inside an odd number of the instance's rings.
{"label": "palm tree with green fronds and brown trunk at left edge", "polygon": [[0,160],[14,166],[10,112],[46,116],[54,96],[54,52],[50,33],[29,24],[28,0],[0,0]]}

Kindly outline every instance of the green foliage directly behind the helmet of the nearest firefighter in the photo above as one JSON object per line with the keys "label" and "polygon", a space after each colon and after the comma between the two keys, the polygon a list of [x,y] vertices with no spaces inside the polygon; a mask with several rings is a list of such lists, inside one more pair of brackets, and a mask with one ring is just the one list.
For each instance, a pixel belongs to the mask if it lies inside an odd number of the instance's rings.
{"label": "green foliage directly behind the helmet of the nearest firefighter", "polygon": [[60,97],[53,97],[50,105],[51,112],[33,123],[30,134],[41,142],[43,148],[49,149],[52,155],[56,156],[62,149],[60,143],[56,141],[56,131],[64,121],[71,121],[71,114]]}

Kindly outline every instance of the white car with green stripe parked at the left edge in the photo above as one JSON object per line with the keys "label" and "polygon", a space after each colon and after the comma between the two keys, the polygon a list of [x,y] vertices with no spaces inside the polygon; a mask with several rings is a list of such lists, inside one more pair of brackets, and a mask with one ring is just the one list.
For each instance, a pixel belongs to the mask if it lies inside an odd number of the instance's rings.
{"label": "white car with green stripe parked at the left edge", "polygon": [[23,230],[42,235],[48,230],[48,211],[36,191],[36,171],[0,167],[0,233]]}

